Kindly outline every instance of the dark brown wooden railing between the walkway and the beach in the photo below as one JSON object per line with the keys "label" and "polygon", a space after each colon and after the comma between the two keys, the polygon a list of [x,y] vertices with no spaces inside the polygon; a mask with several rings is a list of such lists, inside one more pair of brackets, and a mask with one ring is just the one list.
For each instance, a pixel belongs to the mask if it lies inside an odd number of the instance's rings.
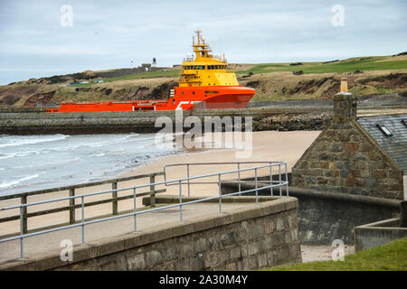
{"label": "dark brown wooden railing between the walkway and the beach", "polygon": [[[12,195],[5,195],[5,196],[0,196],[0,201],[2,200],[12,200],[12,199],[20,199],[21,204],[26,204],[27,203],[27,197],[31,196],[37,196],[37,195],[43,195],[47,193],[54,193],[58,191],[68,191],[69,196],[75,196],[75,191],[77,189],[82,189],[82,188],[89,188],[89,187],[95,187],[99,185],[104,185],[104,184],[111,184],[112,188],[112,195],[111,199],[105,199],[105,200],[97,200],[97,201],[92,201],[88,202],[85,204],[85,207],[89,206],[97,206],[105,203],[111,202],[112,207],[111,207],[111,214],[112,215],[118,215],[118,201],[119,200],[127,200],[129,198],[132,198],[132,196],[122,196],[118,197],[118,191],[115,191],[118,189],[118,183],[119,182],[128,182],[128,181],[133,181],[133,180],[138,180],[138,179],[149,179],[150,183],[156,182],[156,176],[163,175],[164,172],[151,172],[151,173],[146,173],[146,174],[139,174],[135,176],[130,176],[130,177],[124,177],[124,178],[117,178],[117,179],[110,179],[110,180],[105,180],[105,181],[99,181],[99,182],[86,182],[86,183],[80,183],[76,185],[71,185],[71,186],[63,186],[63,187],[58,187],[58,188],[52,188],[52,189],[45,189],[45,190],[39,190],[39,191],[28,191],[28,192],[22,192],[22,193],[17,193],[17,194],[12,194]],[[161,189],[161,190],[156,190],[156,187],[151,184],[150,185],[150,191],[147,191],[146,194],[149,194],[151,197],[150,202],[154,206],[155,204],[155,197],[156,193],[160,192],[165,192],[166,189]],[[23,219],[22,219],[22,226],[23,226],[23,232],[26,233],[28,231],[28,219],[37,217],[37,216],[43,216],[47,214],[53,214],[61,211],[66,211],[69,210],[69,223],[73,224],[75,223],[75,210],[80,209],[80,204],[75,204],[75,198],[68,199],[70,201],[69,206],[63,206],[60,208],[54,208],[51,210],[40,210],[40,211],[35,211],[28,213],[26,207],[24,207],[23,210]],[[5,218],[0,218],[0,224],[13,221],[16,219],[21,219],[21,216],[19,215],[14,215],[14,216],[9,216]]]}

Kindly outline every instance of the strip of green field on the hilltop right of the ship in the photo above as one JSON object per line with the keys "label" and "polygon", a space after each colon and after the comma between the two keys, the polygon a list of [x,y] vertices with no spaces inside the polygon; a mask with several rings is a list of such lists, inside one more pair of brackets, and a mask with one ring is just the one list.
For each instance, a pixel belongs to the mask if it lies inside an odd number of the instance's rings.
{"label": "strip of green field on the hilltop right of the ship", "polygon": [[298,71],[304,73],[345,73],[355,70],[405,70],[407,69],[407,59],[405,57],[377,56],[351,58],[345,61],[336,61],[332,63],[323,62],[302,62],[303,65],[291,66],[290,63],[264,63],[252,67],[250,70],[236,71],[237,74],[253,74],[279,72],[279,71]]}

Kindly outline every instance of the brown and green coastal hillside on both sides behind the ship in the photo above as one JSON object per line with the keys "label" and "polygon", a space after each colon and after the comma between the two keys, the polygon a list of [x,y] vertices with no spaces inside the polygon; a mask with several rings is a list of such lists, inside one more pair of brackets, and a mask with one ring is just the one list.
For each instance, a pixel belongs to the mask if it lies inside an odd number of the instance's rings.
{"label": "brown and green coastal hillside on both sides behind the ship", "polygon": [[[287,99],[330,99],[339,89],[341,77],[348,79],[349,91],[356,96],[406,91],[407,55],[356,57],[343,61],[291,63],[230,63],[239,84],[256,89],[252,101]],[[304,73],[294,75],[292,71]],[[359,70],[359,73],[354,73]],[[360,70],[363,71],[360,73]],[[119,77],[102,78],[98,72],[86,70],[70,75],[29,79],[0,86],[0,106],[25,106],[35,102],[95,101],[111,99],[143,99],[151,95],[166,98],[163,89],[176,85],[179,66],[154,72],[142,72]],[[111,73],[109,75],[120,75]],[[122,73],[125,74],[125,73]],[[393,74],[393,76],[391,76]],[[105,74],[106,75],[106,74]],[[395,75],[395,77],[394,77]],[[70,85],[71,81],[90,83]],[[94,80],[103,79],[103,83]],[[369,80],[373,79],[373,80]],[[63,84],[62,84],[63,83]],[[75,91],[80,88],[80,91]],[[156,90],[155,90],[156,89]],[[158,89],[158,90],[157,90]],[[53,97],[43,96],[53,93]],[[27,100],[31,98],[29,102]],[[46,100],[44,100],[46,99]]]}

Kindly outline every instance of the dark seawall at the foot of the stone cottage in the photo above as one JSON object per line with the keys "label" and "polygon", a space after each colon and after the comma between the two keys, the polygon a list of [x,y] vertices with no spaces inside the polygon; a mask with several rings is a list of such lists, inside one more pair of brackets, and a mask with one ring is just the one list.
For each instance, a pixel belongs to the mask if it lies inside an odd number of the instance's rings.
{"label": "dark seawall at the foot of the stone cottage", "polygon": [[[222,183],[222,193],[236,191],[237,188],[236,183]],[[254,184],[241,184],[242,191],[253,188]],[[274,191],[276,193],[279,192]],[[270,196],[270,189],[260,190],[259,194]],[[282,188],[282,194],[286,194],[285,187]],[[298,238],[303,245],[330,246],[335,239],[353,245],[356,226],[400,214],[401,200],[297,187],[289,187],[289,195],[298,199]]]}

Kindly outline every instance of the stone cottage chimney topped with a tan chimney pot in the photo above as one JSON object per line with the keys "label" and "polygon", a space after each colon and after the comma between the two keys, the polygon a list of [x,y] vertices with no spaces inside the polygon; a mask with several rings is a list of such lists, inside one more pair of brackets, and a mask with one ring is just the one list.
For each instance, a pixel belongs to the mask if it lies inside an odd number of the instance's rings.
{"label": "stone cottage chimney topped with a tan chimney pot", "polygon": [[334,96],[334,118],[336,124],[344,124],[356,118],[356,98],[347,92],[347,80],[341,78],[341,91]]}

